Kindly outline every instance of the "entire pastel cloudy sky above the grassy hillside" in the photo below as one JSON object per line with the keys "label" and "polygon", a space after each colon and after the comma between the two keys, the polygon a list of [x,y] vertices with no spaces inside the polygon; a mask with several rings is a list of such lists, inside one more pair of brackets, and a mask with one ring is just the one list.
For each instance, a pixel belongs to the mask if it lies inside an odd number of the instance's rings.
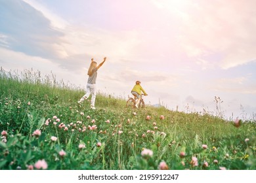
{"label": "entire pastel cloudy sky above the grassy hillside", "polygon": [[[0,0],[0,66],[33,68],[85,88],[94,58],[99,92],[147,104],[254,118],[255,0]],[[78,99],[77,99],[78,100]]]}

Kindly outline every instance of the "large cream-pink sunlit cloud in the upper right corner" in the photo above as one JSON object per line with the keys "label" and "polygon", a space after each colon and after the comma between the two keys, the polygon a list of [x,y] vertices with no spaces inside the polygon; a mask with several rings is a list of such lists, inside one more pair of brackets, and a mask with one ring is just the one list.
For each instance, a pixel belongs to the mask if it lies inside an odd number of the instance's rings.
{"label": "large cream-pink sunlit cloud in the upper right corner", "polygon": [[[153,1],[169,10],[179,22],[181,48],[189,58],[204,60],[221,69],[256,58],[255,1]],[[238,9],[240,10],[238,13]],[[209,58],[220,54],[218,59]],[[206,69],[205,65],[202,65]]]}

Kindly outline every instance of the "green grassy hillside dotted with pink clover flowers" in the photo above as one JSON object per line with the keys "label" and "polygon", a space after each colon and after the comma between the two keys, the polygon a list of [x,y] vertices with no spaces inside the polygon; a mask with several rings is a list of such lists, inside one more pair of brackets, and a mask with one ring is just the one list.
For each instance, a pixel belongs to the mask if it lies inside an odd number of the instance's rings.
{"label": "green grassy hillside dotted with pink clover flowers", "polygon": [[[0,71],[0,169],[256,169],[255,122],[85,93],[39,72]],[[160,118],[160,116],[162,116]]]}

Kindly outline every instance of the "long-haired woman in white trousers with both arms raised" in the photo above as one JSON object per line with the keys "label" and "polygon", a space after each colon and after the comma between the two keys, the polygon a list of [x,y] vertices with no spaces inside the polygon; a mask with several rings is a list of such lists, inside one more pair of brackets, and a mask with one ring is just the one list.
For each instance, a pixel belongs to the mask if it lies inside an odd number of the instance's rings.
{"label": "long-haired woman in white trousers with both arms raised", "polygon": [[106,58],[97,66],[96,61],[93,61],[93,58],[91,59],[91,65],[88,69],[87,75],[89,75],[87,86],[86,86],[86,93],[81,97],[81,99],[78,101],[78,103],[81,103],[85,99],[88,99],[88,97],[92,94],[91,97],[91,108],[95,109],[95,99],[96,99],[96,78],[97,78],[97,71],[100,69],[100,67],[103,65],[103,63],[106,61]]}

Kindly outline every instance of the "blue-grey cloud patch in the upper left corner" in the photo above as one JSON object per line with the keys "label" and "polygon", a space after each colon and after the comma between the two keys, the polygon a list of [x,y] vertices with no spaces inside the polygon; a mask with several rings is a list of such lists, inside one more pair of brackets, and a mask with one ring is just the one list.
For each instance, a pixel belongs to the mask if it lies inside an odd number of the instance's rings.
{"label": "blue-grey cloud patch in the upper left corner", "polygon": [[0,33],[10,49],[42,58],[64,54],[60,45],[64,33],[35,8],[24,1],[1,1],[0,12]]}

